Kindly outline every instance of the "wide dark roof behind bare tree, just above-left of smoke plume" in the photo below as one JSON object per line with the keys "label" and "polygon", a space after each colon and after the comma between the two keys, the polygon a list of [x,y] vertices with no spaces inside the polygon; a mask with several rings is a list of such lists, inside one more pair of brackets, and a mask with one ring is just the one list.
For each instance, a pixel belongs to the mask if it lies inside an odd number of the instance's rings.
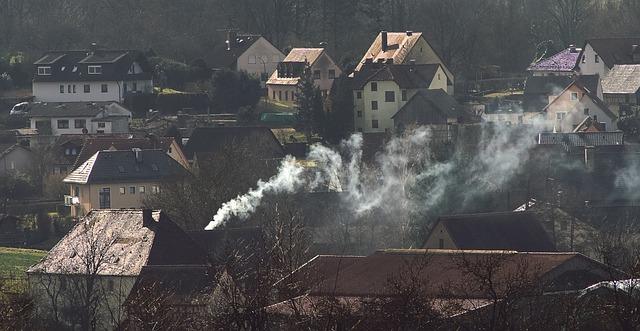
{"label": "wide dark roof behind bare tree, just above-left of smoke plume", "polygon": [[192,160],[194,153],[222,152],[227,147],[245,153],[248,158],[284,157],[282,145],[273,132],[265,127],[196,128],[191,133],[184,152]]}

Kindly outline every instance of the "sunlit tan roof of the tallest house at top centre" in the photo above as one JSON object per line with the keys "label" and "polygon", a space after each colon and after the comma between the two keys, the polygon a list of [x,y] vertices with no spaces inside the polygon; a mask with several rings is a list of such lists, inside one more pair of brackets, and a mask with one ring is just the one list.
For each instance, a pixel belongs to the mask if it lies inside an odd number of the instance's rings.
{"label": "sunlit tan roof of the tallest house at top centre", "polygon": [[387,32],[387,43],[391,46],[386,52],[382,51],[382,33],[378,33],[376,39],[364,53],[355,71],[362,69],[367,59],[374,62],[379,59],[393,59],[393,63],[403,63],[413,46],[422,37],[422,32],[413,32],[408,36],[406,32]]}

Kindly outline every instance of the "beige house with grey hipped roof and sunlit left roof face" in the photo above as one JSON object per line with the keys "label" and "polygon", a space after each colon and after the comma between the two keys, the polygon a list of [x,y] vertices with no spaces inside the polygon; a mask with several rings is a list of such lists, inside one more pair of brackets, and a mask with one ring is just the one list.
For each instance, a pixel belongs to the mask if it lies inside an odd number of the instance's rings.
{"label": "beige house with grey hipped roof and sunlit left roof face", "polygon": [[93,209],[141,208],[160,185],[186,173],[186,169],[162,150],[104,150],[72,171],[65,205],[71,216]]}

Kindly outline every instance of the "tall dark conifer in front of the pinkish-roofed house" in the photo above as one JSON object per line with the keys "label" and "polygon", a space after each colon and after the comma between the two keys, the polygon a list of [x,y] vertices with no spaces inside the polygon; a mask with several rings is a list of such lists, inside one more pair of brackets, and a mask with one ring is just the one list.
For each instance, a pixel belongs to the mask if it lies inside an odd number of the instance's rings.
{"label": "tall dark conifer in front of the pinkish-roofed house", "polygon": [[325,114],[322,105],[320,89],[313,82],[311,68],[307,66],[298,82],[296,104],[298,108],[298,124],[307,136],[307,142],[311,142],[314,133],[324,135],[322,132],[325,122]]}

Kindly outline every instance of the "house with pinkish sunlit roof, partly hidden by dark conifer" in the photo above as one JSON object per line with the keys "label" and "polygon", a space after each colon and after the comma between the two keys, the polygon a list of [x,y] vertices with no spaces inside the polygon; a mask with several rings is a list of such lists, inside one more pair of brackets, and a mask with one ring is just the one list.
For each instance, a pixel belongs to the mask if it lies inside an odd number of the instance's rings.
{"label": "house with pinkish sunlit roof, partly hidden by dark conifer", "polygon": [[280,103],[295,104],[298,81],[306,66],[311,67],[314,84],[327,96],[333,81],[342,70],[327,54],[324,48],[294,48],[278,64],[278,69],[267,81],[268,98]]}

